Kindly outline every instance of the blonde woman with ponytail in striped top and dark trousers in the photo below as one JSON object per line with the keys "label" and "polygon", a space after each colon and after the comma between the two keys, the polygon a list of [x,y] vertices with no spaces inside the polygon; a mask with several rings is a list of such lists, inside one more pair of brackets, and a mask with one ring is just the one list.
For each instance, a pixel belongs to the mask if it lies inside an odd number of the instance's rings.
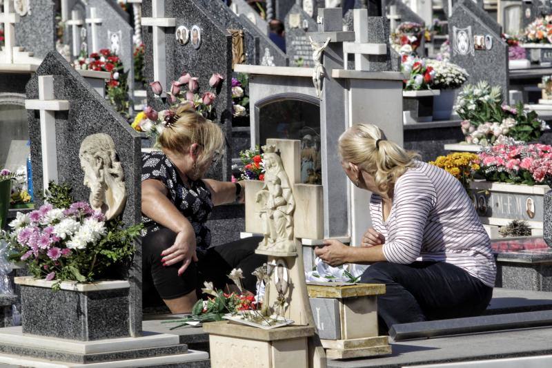
{"label": "blonde woman with ponytail in striped top and dark trousers", "polygon": [[326,240],[315,250],[319,258],[332,266],[371,264],[361,280],[386,284],[377,311],[387,327],[484,311],[495,260],[462,184],[371,124],[346,130],[339,155],[355,186],[373,193],[373,227],[361,246]]}

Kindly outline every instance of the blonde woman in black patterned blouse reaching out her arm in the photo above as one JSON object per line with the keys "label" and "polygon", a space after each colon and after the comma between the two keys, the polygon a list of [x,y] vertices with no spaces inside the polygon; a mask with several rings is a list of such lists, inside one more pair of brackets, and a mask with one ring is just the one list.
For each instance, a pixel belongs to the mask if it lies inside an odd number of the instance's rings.
{"label": "blonde woman in black patterned blouse reaching out her arm", "polygon": [[206,222],[213,206],[244,198],[240,183],[202,179],[224,146],[221,128],[191,104],[168,110],[164,125],[161,151],[142,157],[144,305],[162,299],[172,313],[188,313],[204,281],[224,289],[234,268],[244,271],[244,287],[255,291],[250,273],[266,256],[255,255],[259,238],[210,247]]}

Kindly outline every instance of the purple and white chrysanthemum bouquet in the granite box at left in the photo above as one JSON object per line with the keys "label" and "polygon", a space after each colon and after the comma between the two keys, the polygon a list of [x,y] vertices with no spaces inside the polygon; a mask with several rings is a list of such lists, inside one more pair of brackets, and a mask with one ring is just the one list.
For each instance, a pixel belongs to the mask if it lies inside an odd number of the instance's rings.
{"label": "purple and white chrysanthemum bouquet in the granite box at left", "polygon": [[91,282],[111,267],[132,260],[134,240],[141,224],[124,229],[121,220],[107,221],[86,202],[73,202],[70,188],[50,183],[46,204],[29,214],[17,213],[11,231],[0,239],[8,243],[10,260],[25,262],[35,278]]}

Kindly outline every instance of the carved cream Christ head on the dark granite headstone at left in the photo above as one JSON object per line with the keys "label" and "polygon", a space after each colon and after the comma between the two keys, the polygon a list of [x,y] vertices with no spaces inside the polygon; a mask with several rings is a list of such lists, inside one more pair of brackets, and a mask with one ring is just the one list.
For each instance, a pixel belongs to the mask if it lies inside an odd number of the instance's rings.
{"label": "carved cream Christ head on the dark granite headstone at left", "polygon": [[121,162],[113,139],[107,134],[88,135],[79,149],[83,184],[90,188],[90,206],[106,220],[117,217],[126,204],[126,188]]}

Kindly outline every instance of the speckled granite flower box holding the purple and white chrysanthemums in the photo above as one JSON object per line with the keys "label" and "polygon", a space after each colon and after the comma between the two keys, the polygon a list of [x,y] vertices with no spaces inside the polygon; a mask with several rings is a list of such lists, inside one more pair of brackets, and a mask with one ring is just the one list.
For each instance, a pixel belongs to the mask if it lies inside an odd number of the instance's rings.
{"label": "speckled granite flower box holding the purple and white chrysanthemums", "polygon": [[128,281],[61,282],[15,278],[21,287],[23,333],[68,340],[130,336]]}

